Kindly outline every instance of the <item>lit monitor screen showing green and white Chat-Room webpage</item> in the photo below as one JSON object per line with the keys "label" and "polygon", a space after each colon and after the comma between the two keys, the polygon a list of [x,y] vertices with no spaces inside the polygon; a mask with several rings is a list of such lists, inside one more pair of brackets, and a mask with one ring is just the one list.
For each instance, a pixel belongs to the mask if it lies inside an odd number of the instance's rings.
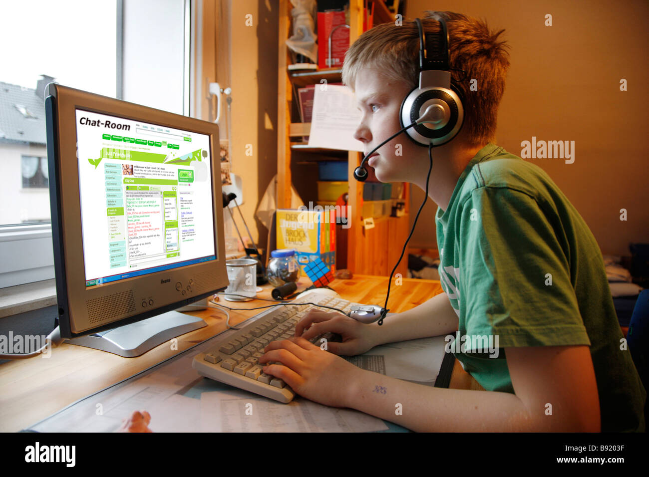
{"label": "lit monitor screen showing green and white Chat-Room webpage", "polygon": [[215,260],[209,136],[76,120],[86,286]]}

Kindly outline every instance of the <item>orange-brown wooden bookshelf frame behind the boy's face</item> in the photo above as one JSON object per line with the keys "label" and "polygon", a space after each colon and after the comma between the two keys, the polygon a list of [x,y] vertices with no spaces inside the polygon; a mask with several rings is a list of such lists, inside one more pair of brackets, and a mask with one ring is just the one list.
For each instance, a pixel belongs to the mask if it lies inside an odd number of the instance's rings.
{"label": "orange-brown wooden bookshelf frame behind the boy's face", "polygon": [[[393,22],[393,15],[387,10],[384,2],[379,0],[350,0],[349,8],[349,36],[350,43],[358,40],[363,32],[363,8],[367,3],[374,1],[374,25]],[[291,1],[279,0],[280,17],[278,29],[278,109],[277,109],[277,198],[278,207],[289,208],[291,205],[291,184],[293,180],[313,181],[313,184],[304,184],[302,188],[308,195],[315,195],[315,167],[322,161],[345,162],[347,166],[349,186],[349,220],[353,224],[349,230],[342,230],[339,241],[339,251],[347,258],[347,268],[354,273],[367,273],[369,275],[388,275],[397,263],[403,243],[408,238],[410,219],[408,217],[410,204],[410,184],[404,184],[404,202],[406,215],[404,217],[375,217],[374,228],[367,229],[362,226],[363,184],[354,180],[354,169],[360,165],[362,153],[357,151],[342,151],[323,147],[310,147],[303,138],[310,135],[310,123],[300,122],[297,114],[299,99],[297,89],[311,84],[320,84],[326,80],[329,84],[339,83],[342,80],[340,66],[316,70],[289,71],[288,62],[291,58],[286,38],[292,34],[291,30]],[[293,122],[293,120],[297,120]],[[338,164],[340,165],[340,164]],[[371,212],[367,210],[366,212]],[[384,210],[380,211],[382,215]],[[371,213],[374,213],[372,211]],[[378,211],[376,211],[379,214]],[[401,220],[402,219],[402,220]],[[402,260],[398,273],[408,273],[407,260]]]}

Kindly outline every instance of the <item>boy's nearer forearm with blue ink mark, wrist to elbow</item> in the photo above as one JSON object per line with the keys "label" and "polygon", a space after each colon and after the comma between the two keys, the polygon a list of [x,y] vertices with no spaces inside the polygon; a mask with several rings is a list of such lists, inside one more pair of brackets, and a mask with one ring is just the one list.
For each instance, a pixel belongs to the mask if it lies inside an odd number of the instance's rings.
{"label": "boy's nearer forearm with blue ink mark, wrist to elbow", "polygon": [[495,391],[443,389],[360,370],[348,408],[416,432],[545,432],[543,409],[532,416],[519,397]]}

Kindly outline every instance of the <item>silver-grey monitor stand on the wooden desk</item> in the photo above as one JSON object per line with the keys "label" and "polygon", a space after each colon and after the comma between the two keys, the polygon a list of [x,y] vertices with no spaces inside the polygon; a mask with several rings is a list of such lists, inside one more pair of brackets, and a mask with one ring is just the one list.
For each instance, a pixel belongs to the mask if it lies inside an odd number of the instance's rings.
{"label": "silver-grey monitor stand on the wooden desk", "polygon": [[134,358],[171,338],[198,330],[203,326],[207,326],[207,323],[201,318],[173,311],[112,328],[112,330],[68,339],[66,343],[108,351],[125,358]]}

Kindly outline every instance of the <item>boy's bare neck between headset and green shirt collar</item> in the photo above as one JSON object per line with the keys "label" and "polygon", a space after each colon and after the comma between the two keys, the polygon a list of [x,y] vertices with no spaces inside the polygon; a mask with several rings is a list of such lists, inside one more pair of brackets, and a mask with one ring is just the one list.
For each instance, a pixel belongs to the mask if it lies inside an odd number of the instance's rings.
{"label": "boy's bare neck between headset and green shirt collar", "polygon": [[[467,164],[471,162],[472,158],[476,156],[478,151],[485,147],[486,144],[476,147],[466,147],[461,143],[453,144],[448,143],[441,147],[434,147],[432,149],[433,155],[433,170],[430,173],[430,180],[428,181],[428,197],[437,204],[441,210],[446,211],[448,202],[453,195],[456,184],[458,184],[459,176],[462,174]],[[418,171],[417,180],[413,181],[414,184],[419,186],[421,190],[426,190],[426,176],[428,175],[428,167],[430,162],[428,158],[428,150],[426,149],[423,157],[426,159],[420,164],[423,164],[422,171]]]}

